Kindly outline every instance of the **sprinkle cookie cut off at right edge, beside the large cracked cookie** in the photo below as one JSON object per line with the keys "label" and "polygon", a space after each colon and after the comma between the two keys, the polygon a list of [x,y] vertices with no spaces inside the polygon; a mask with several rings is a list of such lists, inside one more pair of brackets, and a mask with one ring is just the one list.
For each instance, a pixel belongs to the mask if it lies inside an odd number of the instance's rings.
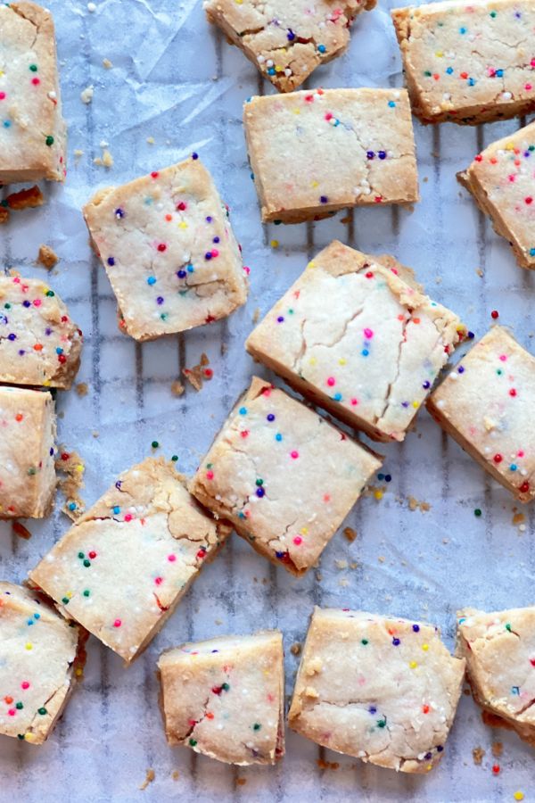
{"label": "sprinkle cookie cut off at right edge, beside the large cracked cookie", "polygon": [[517,500],[535,497],[535,357],[506,329],[493,327],[473,346],[427,409]]}

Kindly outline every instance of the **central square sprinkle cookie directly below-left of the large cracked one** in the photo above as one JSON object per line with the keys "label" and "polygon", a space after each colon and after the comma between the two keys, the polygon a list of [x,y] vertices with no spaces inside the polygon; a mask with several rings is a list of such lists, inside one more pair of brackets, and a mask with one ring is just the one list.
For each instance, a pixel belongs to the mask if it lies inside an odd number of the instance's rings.
{"label": "central square sprinkle cookie directly below-left of the large cracked one", "polygon": [[380,467],[325,418],[252,377],[189,488],[260,555],[302,575]]}

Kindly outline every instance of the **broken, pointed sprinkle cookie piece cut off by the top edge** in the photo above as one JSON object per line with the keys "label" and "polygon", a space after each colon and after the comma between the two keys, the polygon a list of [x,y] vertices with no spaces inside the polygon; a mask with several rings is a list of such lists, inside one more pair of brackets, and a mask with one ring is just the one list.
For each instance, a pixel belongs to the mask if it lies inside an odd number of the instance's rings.
{"label": "broken, pointed sprinkle cookie piece cut off by the top edge", "polygon": [[210,22],[241,47],[281,92],[300,87],[320,64],[342,54],[350,24],[375,0],[207,0]]}

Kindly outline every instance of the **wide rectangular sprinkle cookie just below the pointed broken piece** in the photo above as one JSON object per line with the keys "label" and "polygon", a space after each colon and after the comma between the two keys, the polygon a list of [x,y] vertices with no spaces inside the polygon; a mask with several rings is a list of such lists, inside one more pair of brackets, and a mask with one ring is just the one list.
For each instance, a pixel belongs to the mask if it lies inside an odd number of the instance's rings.
{"label": "wide rectangular sprinkle cookie just below the pointed broken piece", "polygon": [[264,221],[298,223],[349,206],[418,200],[405,89],[252,97],[243,124]]}

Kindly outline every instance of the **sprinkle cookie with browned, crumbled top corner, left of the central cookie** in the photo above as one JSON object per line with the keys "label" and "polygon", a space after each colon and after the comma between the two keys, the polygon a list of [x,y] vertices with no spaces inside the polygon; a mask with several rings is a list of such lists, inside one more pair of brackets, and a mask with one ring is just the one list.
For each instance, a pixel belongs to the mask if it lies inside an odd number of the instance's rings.
{"label": "sprinkle cookie with browned, crumbled top corner, left of the central cookie", "polygon": [[129,662],[228,532],[173,466],[149,458],[119,476],[29,576],[65,617]]}

